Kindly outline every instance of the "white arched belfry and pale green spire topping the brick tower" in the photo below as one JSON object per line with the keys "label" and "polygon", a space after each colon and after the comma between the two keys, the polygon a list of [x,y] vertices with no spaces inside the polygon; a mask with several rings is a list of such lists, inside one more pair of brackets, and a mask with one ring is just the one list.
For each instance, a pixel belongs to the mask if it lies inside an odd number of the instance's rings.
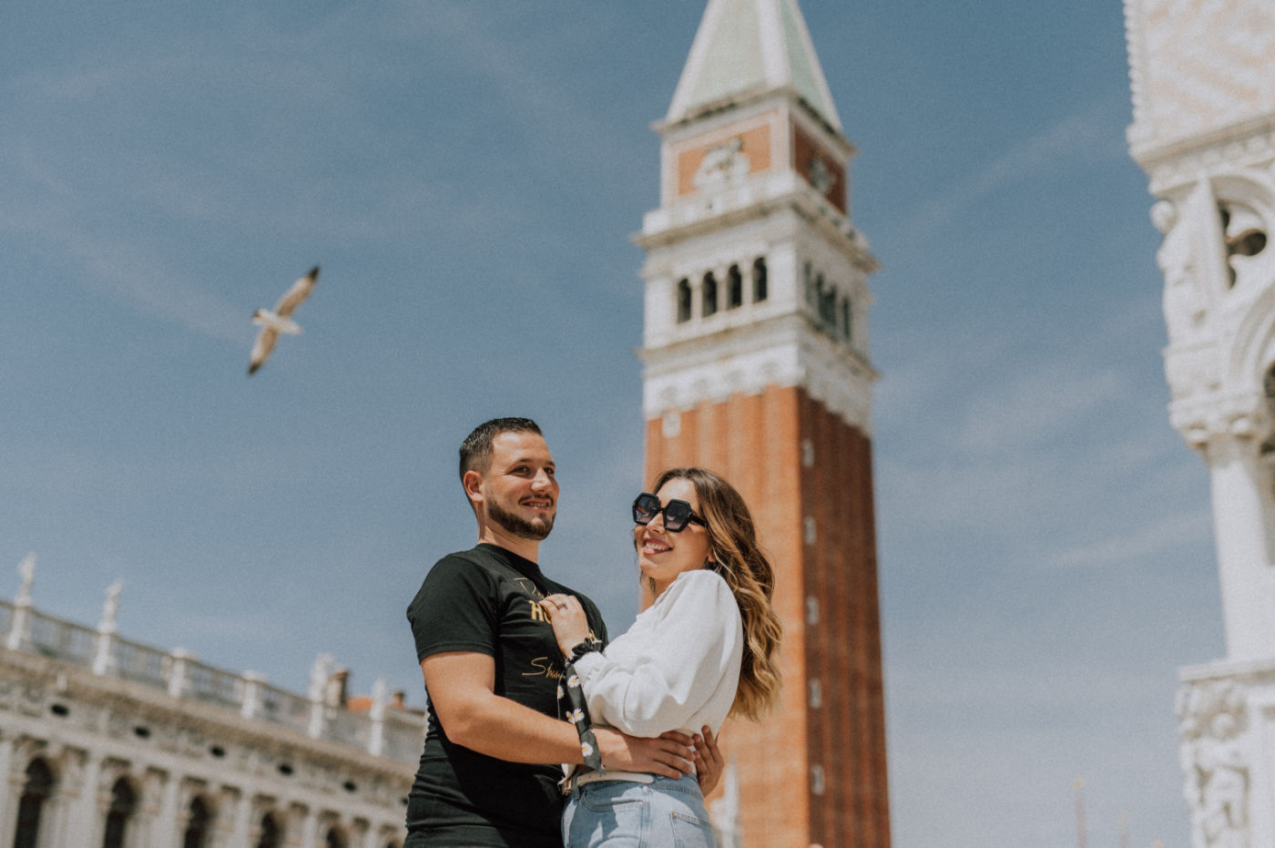
{"label": "white arched belfry and pale green spire topping the brick tower", "polygon": [[870,431],[867,278],[854,147],[796,0],[710,0],[664,120],[646,250],[646,418],[768,385]]}

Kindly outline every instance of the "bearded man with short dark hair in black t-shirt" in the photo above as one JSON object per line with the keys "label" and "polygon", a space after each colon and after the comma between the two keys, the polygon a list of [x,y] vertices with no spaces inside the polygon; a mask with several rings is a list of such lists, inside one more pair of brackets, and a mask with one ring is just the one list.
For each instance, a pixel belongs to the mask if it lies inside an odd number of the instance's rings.
{"label": "bearded man with short dark hair in black t-shirt", "polygon": [[[548,764],[584,757],[557,718],[562,657],[538,602],[575,594],[593,634],[607,632],[592,601],[537,565],[557,513],[555,471],[529,418],[488,421],[460,445],[478,545],[439,560],[408,607],[431,709],[404,848],[561,848],[562,771]],[[594,732],[608,769],[677,777],[696,757],[681,735]]]}

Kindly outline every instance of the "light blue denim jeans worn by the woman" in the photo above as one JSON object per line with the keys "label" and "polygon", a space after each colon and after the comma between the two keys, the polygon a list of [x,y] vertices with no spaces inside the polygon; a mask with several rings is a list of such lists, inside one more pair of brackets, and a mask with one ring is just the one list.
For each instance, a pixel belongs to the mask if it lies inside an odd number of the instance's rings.
{"label": "light blue denim jeans worn by the woman", "polygon": [[572,789],[562,812],[566,848],[714,848],[694,774],[652,783],[594,780]]}

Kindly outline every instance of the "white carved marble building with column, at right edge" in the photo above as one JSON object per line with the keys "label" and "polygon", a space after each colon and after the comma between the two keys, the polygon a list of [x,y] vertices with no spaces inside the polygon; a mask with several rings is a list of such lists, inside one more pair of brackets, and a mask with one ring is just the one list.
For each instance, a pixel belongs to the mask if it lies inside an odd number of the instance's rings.
{"label": "white carved marble building with column, at right edge", "polygon": [[1169,417],[1209,465],[1227,657],[1182,669],[1195,848],[1275,844],[1275,5],[1125,0]]}

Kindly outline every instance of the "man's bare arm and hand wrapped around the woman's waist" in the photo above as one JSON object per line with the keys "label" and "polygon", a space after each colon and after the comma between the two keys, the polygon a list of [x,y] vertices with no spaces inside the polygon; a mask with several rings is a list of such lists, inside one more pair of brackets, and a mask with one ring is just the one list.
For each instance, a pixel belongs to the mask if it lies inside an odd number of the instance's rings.
{"label": "man's bare arm and hand wrapped around the woman's waist", "polygon": [[[496,694],[496,663],[469,650],[445,650],[421,661],[430,704],[448,738],[510,763],[584,763],[575,727]],[[594,728],[602,764],[623,771],[677,778],[691,770],[688,737],[645,740]]]}

